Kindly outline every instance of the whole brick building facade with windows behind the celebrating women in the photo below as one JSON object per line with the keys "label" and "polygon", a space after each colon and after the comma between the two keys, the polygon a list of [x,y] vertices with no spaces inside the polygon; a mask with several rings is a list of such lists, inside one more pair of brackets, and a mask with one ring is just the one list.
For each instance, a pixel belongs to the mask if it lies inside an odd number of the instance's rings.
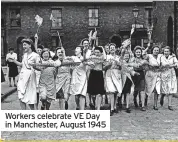
{"label": "whole brick building facade with windows behind the celebrating women", "polygon": [[[153,40],[163,41],[166,44],[167,18],[172,16],[174,22],[175,17],[174,2],[164,3],[164,7],[162,7],[161,2],[156,2],[156,4],[153,2],[112,1],[108,3],[2,2],[2,64],[4,64],[4,57],[9,47],[15,48],[19,60],[21,60],[22,38],[33,37],[37,31],[35,15],[43,18],[43,24],[39,29],[40,43],[50,49],[60,46],[57,36],[57,31],[59,31],[62,44],[68,55],[74,54],[75,47],[80,44],[83,38],[87,38],[90,30],[95,28],[98,31],[97,42],[99,45],[115,42],[120,46],[120,42],[129,38],[132,25],[136,24],[137,29],[132,36],[132,47],[135,45],[146,46],[148,42],[147,25],[156,23],[154,16],[157,17],[157,23],[153,31]],[[169,6],[166,7],[167,4]],[[136,23],[132,12],[135,5],[139,9]],[[160,9],[160,7],[162,8]],[[164,15],[163,19],[161,18],[162,15]],[[53,18],[56,20],[53,21]],[[175,39],[173,40],[175,41]]]}

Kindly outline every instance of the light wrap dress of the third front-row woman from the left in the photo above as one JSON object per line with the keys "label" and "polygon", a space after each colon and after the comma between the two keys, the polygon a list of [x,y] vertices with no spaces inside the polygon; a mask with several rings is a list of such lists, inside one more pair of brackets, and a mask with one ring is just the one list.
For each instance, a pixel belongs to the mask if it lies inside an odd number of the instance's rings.
{"label": "light wrap dress of the third front-row woman from the left", "polygon": [[[65,61],[65,59],[63,61]],[[58,73],[56,76],[56,91],[58,92],[60,89],[62,89],[64,97],[66,97],[65,95],[69,93],[70,80],[70,68],[67,66],[58,67]]]}

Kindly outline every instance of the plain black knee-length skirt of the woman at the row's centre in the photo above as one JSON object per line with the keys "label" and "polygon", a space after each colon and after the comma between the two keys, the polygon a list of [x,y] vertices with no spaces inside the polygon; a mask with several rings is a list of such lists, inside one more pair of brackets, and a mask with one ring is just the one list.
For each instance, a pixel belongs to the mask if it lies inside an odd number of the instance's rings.
{"label": "plain black knee-length skirt of the woman at the row's centre", "polygon": [[105,94],[103,71],[91,70],[88,79],[87,93],[90,95]]}

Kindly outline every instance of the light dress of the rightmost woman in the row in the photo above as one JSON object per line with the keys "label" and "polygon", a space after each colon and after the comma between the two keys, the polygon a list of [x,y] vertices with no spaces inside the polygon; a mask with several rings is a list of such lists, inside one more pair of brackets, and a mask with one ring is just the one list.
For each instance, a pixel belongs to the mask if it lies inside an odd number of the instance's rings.
{"label": "light dress of the rightmost woman in the row", "polygon": [[177,78],[174,68],[164,68],[166,65],[178,66],[178,61],[176,57],[169,56],[166,58],[164,55],[161,56],[161,93],[162,94],[175,94],[177,93]]}

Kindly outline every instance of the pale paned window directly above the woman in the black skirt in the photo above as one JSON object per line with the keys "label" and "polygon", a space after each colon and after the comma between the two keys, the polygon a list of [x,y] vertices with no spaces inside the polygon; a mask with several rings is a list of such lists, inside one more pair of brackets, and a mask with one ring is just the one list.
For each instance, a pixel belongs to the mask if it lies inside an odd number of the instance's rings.
{"label": "pale paned window directly above the woman in the black skirt", "polygon": [[98,21],[98,9],[89,9],[89,26],[97,27],[99,25]]}

